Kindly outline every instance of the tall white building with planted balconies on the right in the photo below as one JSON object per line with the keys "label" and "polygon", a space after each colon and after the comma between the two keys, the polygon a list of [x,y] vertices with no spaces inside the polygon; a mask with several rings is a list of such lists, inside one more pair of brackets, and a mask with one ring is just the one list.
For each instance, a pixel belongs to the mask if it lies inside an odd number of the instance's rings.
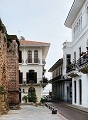
{"label": "tall white building with planted balconies on the right", "polygon": [[74,0],[65,26],[72,42],[63,43],[63,74],[72,78],[72,103],[88,108],[88,0]]}

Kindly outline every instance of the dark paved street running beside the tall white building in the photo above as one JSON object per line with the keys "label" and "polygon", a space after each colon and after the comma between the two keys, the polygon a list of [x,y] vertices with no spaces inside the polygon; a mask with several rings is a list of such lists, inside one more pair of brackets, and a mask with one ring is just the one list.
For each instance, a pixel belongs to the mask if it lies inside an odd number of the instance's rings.
{"label": "dark paved street running beside the tall white building", "polygon": [[63,103],[48,103],[57,107],[58,112],[65,116],[68,120],[88,120],[88,113],[72,107],[66,106]]}

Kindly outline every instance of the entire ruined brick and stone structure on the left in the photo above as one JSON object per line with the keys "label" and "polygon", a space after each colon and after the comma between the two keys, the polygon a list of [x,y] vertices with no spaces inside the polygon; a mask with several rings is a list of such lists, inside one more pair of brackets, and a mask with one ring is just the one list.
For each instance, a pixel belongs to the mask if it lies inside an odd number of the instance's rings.
{"label": "entire ruined brick and stone structure on the left", "polygon": [[0,20],[0,114],[19,106],[19,40]]}

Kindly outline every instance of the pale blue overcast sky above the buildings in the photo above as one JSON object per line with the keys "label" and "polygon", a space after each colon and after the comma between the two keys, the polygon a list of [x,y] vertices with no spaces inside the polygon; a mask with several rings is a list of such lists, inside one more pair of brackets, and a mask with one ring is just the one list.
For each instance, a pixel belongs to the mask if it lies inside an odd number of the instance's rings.
{"label": "pale blue overcast sky above the buildings", "polygon": [[8,34],[51,44],[45,66],[49,80],[48,70],[63,57],[63,42],[71,41],[71,30],[64,22],[72,3],[73,0],[0,0],[0,18]]}

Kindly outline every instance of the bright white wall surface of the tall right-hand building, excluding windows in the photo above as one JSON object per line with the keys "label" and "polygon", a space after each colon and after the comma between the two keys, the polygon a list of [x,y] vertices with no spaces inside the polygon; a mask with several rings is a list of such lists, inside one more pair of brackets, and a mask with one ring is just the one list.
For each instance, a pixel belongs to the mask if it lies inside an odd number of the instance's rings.
{"label": "bright white wall surface of the tall right-hand building, excluding windows", "polygon": [[[88,19],[86,6],[88,5],[88,0],[85,1],[83,7],[80,9],[77,17],[72,23],[72,42],[70,47],[68,43],[66,46],[63,45],[63,56],[64,56],[64,66],[66,67],[66,56],[65,54],[71,54],[71,61],[74,59],[74,52],[76,52],[76,59],[79,59],[79,47],[81,47],[81,52],[86,52],[86,42],[88,40]],[[82,17],[82,29],[78,32],[74,38],[74,26],[77,25],[77,22]],[[63,74],[66,74],[66,68],[63,69]],[[82,80],[82,106],[88,107],[88,74],[81,73],[81,76],[75,77],[72,79],[72,103],[74,103],[74,80],[76,81],[76,105],[79,104],[79,79]]]}

